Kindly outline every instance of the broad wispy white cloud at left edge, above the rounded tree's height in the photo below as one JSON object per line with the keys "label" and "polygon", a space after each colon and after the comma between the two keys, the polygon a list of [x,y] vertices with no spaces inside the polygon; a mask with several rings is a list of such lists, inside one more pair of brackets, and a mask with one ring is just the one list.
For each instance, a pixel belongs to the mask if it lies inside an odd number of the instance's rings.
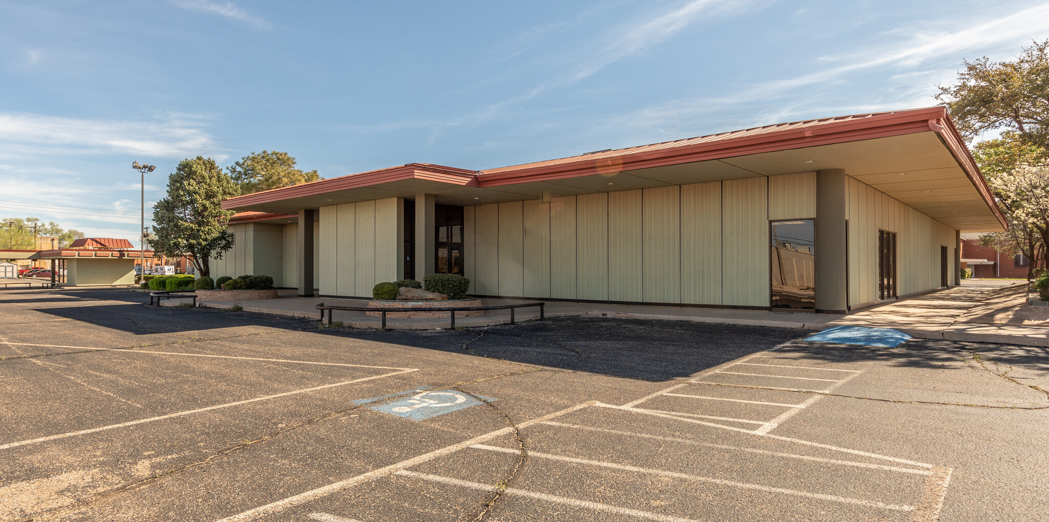
{"label": "broad wispy white cloud at left edge, above the rounded tree's height", "polygon": [[199,123],[187,119],[126,122],[0,113],[0,139],[51,154],[120,152],[172,158],[197,154],[226,157]]}

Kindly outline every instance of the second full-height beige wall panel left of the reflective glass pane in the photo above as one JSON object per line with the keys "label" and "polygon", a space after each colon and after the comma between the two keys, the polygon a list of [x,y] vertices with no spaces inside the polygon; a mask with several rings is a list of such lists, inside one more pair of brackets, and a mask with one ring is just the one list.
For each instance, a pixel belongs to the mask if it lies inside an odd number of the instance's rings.
{"label": "second full-height beige wall panel left of the reflective glass pane", "polygon": [[681,302],[722,304],[721,181],[681,188]]}

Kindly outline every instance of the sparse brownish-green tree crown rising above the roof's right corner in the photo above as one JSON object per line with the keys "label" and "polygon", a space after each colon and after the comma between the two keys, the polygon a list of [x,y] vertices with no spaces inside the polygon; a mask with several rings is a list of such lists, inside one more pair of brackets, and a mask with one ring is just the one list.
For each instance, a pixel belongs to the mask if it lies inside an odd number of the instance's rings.
{"label": "sparse brownish-green tree crown rising above the roof's right corner", "polygon": [[1049,40],[1030,47],[1012,62],[987,57],[964,61],[958,83],[937,86],[936,99],[950,110],[968,137],[1004,129],[1002,136],[1049,152]]}

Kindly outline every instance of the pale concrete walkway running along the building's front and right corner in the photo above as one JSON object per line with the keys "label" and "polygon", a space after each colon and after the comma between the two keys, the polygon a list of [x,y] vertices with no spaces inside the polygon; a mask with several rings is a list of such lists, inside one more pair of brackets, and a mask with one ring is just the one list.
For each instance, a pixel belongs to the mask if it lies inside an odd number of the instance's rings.
{"label": "pale concrete walkway running along the building's front and right corner", "polygon": [[[875,326],[895,328],[923,339],[1007,343],[1049,346],[1049,309],[1026,306],[1026,284],[965,285],[937,290],[901,301],[860,310],[848,316],[825,316],[802,311],[727,310],[716,308],[618,305],[603,303],[551,302],[545,317],[609,317],[662,321],[692,321],[744,326],[772,326],[822,330],[834,326]],[[179,300],[165,301],[165,305]],[[523,303],[506,299],[483,299],[483,304]],[[280,290],[273,300],[243,301],[245,311],[277,313],[320,320],[318,303],[337,306],[367,306],[367,301],[331,298],[298,298],[296,290]],[[232,302],[205,301],[201,306],[228,308]],[[539,319],[538,308],[515,312],[516,321]],[[378,317],[359,311],[335,310],[333,321],[354,328],[379,328]],[[493,326],[510,323],[509,310],[490,310],[479,317],[456,317],[457,327]],[[388,328],[448,328],[449,320],[387,319]]]}

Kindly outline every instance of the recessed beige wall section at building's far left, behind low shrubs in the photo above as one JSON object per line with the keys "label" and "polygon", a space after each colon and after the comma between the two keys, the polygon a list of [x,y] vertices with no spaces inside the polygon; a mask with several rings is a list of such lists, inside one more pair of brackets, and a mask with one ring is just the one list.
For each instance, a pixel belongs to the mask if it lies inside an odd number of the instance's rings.
{"label": "recessed beige wall section at building's far left, behind low shrubs", "polygon": [[[292,225],[295,226],[295,225]],[[274,286],[286,286],[287,252],[284,225],[244,223],[230,225],[233,248],[222,254],[222,259],[211,259],[211,277],[270,276]],[[295,238],[293,237],[293,241]],[[293,245],[294,247],[294,245]],[[293,251],[294,258],[294,251]]]}

